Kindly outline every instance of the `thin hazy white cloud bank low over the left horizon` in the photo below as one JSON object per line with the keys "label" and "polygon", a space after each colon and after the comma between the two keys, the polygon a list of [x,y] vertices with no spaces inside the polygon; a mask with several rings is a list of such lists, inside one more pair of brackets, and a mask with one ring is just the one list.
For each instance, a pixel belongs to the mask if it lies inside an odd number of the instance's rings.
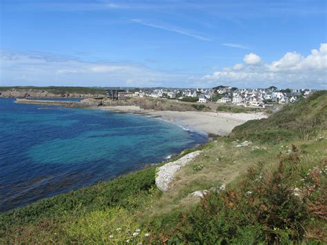
{"label": "thin hazy white cloud bank low over the left horizon", "polygon": [[1,52],[3,86],[174,86],[186,74],[141,63],[90,62],[45,53]]}

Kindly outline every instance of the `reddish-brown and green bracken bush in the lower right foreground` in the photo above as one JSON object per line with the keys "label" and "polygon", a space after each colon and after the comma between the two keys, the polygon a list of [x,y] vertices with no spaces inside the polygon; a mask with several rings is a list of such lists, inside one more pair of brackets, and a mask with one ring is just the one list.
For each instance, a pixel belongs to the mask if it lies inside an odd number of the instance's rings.
{"label": "reddish-brown and green bracken bush in the lower right foreground", "polygon": [[326,219],[326,194],[319,190],[326,171],[318,166],[309,170],[304,184],[297,188],[295,180],[303,174],[297,148],[278,157],[276,170],[268,172],[259,163],[235,188],[205,195],[197,208],[184,215],[179,235],[172,240],[195,244],[301,242],[313,215]]}

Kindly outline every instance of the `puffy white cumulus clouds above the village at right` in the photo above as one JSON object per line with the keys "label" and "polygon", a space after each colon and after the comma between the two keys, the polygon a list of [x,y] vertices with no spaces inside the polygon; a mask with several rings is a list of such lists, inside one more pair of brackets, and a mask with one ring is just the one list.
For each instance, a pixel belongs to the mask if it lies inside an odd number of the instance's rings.
{"label": "puffy white cumulus clouds above the village at right", "polygon": [[237,63],[232,68],[224,68],[203,77],[190,77],[199,86],[232,84],[244,88],[275,85],[293,88],[327,88],[327,43],[321,43],[319,50],[311,50],[310,55],[287,52],[281,59],[263,63],[258,55],[244,56],[244,64]]}

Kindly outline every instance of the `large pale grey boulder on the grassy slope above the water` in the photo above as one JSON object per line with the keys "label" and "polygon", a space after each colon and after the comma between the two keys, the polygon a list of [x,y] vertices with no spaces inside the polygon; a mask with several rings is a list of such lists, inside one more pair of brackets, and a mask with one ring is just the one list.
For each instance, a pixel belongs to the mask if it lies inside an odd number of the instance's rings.
{"label": "large pale grey boulder on the grassy slope above the water", "polygon": [[164,192],[169,190],[169,184],[174,179],[175,173],[177,173],[182,166],[188,164],[192,159],[197,157],[201,153],[201,150],[197,150],[193,153],[189,153],[184,157],[176,161],[171,161],[168,164],[165,164],[157,168],[157,177],[155,178],[155,184],[159,190]]}

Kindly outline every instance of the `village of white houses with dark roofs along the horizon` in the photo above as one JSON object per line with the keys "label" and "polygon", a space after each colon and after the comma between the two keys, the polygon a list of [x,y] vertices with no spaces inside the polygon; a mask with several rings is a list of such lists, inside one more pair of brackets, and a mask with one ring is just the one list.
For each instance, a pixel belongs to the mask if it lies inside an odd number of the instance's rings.
{"label": "village of white houses with dark roofs along the horizon", "polygon": [[215,88],[132,88],[106,89],[111,99],[128,99],[129,97],[149,97],[157,99],[174,99],[176,101],[197,102],[201,104],[217,103],[235,106],[261,107],[273,104],[295,103],[301,97],[308,97],[315,90],[269,88],[234,88],[217,86]]}

